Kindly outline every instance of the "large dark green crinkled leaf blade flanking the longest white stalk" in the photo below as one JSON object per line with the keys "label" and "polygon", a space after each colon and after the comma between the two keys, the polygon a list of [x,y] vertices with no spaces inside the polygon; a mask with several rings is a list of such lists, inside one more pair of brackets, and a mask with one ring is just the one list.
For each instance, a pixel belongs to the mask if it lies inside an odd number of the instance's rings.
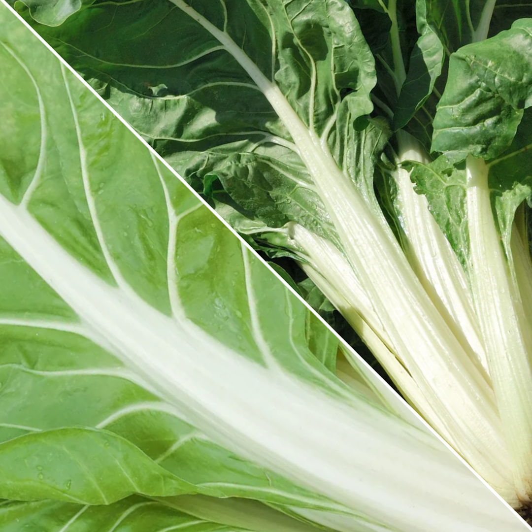
{"label": "large dark green crinkled leaf blade flanking the longest white stalk", "polygon": [[[219,180],[268,227],[295,220],[330,235],[284,117],[184,6],[88,6],[58,28],[39,29],[197,190],[209,195]],[[353,122],[372,109],[375,66],[343,1],[195,2],[194,9],[241,43],[340,164],[356,157],[344,132],[356,136]],[[112,42],[101,38],[108,31]]]}

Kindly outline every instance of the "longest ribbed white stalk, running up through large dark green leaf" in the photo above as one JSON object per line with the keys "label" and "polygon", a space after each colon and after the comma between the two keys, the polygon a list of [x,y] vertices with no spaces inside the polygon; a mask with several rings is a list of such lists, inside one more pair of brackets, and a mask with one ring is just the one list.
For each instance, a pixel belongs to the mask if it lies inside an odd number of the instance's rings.
{"label": "longest ribbed white stalk, running up through large dark green leaf", "polygon": [[383,217],[338,168],[328,147],[298,117],[244,50],[184,0],[171,0],[219,40],[267,97],[298,148],[394,351],[438,412],[458,452],[500,493],[511,485],[493,390],[475,368],[415,276]]}

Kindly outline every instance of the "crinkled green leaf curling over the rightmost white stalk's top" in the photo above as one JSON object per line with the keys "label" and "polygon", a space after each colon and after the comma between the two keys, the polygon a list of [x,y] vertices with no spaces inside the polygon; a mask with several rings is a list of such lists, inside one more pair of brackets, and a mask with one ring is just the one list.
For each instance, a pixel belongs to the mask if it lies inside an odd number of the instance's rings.
{"label": "crinkled green leaf curling over the rightmost white stalk's top", "polygon": [[531,20],[451,57],[434,119],[434,151],[494,159],[510,146],[523,109],[532,104]]}

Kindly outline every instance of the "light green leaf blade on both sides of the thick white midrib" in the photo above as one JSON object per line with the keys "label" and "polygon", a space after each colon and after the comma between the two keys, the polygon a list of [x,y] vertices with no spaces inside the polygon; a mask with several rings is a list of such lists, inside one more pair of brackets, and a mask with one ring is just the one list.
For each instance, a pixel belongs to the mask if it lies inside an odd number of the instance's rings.
{"label": "light green leaf blade on both sides of the thick white midrib", "polygon": [[[2,71],[22,89],[2,85],[13,127],[2,138],[6,205],[31,213],[110,290],[117,276],[168,316],[176,288],[187,318],[236,353],[259,364],[268,353],[350,401],[330,371],[337,339],[321,322],[5,10],[2,32]],[[30,147],[22,152],[21,136]],[[204,493],[330,508],[186,422],[5,239],[0,248],[4,498],[109,504],[133,493]]]}

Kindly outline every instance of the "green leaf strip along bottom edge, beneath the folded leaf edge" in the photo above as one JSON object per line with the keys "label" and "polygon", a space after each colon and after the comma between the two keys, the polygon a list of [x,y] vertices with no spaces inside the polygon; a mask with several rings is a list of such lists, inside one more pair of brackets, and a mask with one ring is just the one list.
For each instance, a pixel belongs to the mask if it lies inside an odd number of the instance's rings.
{"label": "green leaf strip along bottom edge, beneath the folded leaf edge", "polygon": [[[110,505],[82,506],[57,501],[9,502],[0,506],[0,526],[6,532],[38,527],[57,532],[116,530],[118,532],[316,532],[317,528],[255,501],[205,496],[160,500],[131,496]],[[325,529],[326,530],[326,529]]]}

